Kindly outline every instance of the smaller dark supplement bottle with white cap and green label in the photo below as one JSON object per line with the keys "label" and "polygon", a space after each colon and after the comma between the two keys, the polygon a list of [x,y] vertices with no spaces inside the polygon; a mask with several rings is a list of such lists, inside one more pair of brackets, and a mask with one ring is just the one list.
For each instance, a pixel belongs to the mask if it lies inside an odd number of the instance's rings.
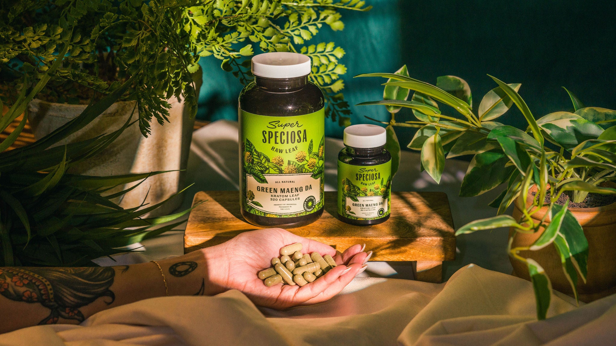
{"label": "smaller dark supplement bottle with white cap and green label", "polygon": [[338,154],[338,219],[351,225],[376,225],[389,219],[391,155],[381,126],[344,129]]}

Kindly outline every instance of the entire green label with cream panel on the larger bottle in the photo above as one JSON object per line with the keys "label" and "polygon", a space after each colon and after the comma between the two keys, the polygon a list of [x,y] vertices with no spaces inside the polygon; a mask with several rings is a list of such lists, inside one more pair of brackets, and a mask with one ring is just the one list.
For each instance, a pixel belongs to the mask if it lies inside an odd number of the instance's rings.
{"label": "entire green label with cream panel on the larger bottle", "polygon": [[323,207],[325,110],[264,116],[240,110],[241,203],[267,217]]}

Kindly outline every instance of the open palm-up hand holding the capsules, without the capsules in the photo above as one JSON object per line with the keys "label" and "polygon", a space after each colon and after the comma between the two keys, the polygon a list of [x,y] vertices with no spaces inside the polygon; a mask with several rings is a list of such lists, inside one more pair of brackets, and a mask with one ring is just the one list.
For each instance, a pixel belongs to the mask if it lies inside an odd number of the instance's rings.
{"label": "open palm-up hand holding the capsules, without the capsules", "polygon": [[[302,252],[331,255],[337,266],[303,287],[275,284],[267,287],[257,273],[271,267],[272,257],[280,257],[280,248],[302,243]],[[206,247],[203,254],[208,267],[209,283],[225,289],[238,289],[254,304],[272,308],[288,308],[300,304],[315,304],[338,294],[365,269],[368,257],[360,244],[342,254],[318,241],[302,238],[281,228],[267,228],[241,233],[225,243]]]}

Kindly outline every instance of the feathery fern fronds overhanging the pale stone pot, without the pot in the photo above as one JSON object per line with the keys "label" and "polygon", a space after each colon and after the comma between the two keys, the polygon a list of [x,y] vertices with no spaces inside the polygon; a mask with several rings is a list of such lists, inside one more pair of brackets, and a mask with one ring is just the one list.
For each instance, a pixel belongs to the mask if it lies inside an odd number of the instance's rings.
{"label": "feathery fern fronds overhanging the pale stone pot, without the pot", "polygon": [[[333,42],[306,44],[323,26],[342,30],[339,9],[368,10],[358,0],[8,0],[0,3],[1,75],[10,81],[4,101],[12,103],[26,76],[37,78],[51,67],[60,43],[71,38],[67,58],[50,74],[40,97],[59,102],[109,94],[134,77],[127,100],[137,101],[139,126],[150,132],[152,118],[167,121],[171,96],[185,99],[196,113],[190,76],[201,57],[222,60],[241,82],[251,78],[249,58],[263,52],[309,55],[310,80],[325,91],[326,114],[340,124],[349,107],[339,93],[346,72],[344,50]],[[27,83],[26,83],[27,84]],[[12,97],[6,97],[12,96]]]}

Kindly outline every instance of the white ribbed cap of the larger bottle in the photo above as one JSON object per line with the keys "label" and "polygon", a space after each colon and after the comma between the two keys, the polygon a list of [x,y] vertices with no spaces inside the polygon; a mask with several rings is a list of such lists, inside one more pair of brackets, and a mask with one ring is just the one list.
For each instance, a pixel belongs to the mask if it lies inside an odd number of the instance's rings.
{"label": "white ribbed cap of the larger bottle", "polygon": [[291,52],[254,55],[252,71],[264,78],[296,78],[310,74],[310,57]]}

